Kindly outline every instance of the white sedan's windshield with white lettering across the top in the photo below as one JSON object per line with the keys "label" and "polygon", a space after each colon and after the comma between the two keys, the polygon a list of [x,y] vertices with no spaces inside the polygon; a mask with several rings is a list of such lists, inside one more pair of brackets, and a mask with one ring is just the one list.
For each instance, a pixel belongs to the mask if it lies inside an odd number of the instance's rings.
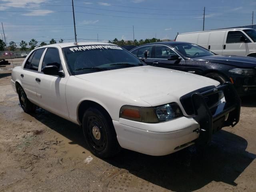
{"label": "white sedan's windshield with white lettering across the top", "polygon": [[114,45],[62,48],[72,75],[145,65],[130,52]]}

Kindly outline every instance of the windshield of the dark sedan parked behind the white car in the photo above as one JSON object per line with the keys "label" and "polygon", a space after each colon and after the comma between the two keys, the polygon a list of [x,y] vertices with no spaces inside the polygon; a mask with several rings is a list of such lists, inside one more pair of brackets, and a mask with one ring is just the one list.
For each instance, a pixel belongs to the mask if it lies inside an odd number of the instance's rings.
{"label": "windshield of the dark sedan parked behind the white car", "polygon": [[214,53],[192,43],[174,44],[172,47],[188,58],[214,55]]}

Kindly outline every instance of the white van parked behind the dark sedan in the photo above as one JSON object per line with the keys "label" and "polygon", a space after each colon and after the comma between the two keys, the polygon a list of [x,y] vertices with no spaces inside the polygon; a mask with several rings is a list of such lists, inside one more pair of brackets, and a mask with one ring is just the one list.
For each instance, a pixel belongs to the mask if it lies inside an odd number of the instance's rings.
{"label": "white van parked behind the dark sedan", "polygon": [[250,28],[183,33],[175,40],[198,44],[220,55],[256,57],[256,30]]}

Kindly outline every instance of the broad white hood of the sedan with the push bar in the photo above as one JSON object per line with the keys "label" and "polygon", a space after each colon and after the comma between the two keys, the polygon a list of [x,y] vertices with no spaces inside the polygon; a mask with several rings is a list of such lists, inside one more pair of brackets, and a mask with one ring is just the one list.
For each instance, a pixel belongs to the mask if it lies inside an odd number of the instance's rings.
{"label": "broad white hood of the sedan with the push bar", "polygon": [[124,100],[144,101],[150,106],[178,102],[184,94],[219,85],[210,78],[153,66],[122,68],[76,77],[86,80],[95,90],[111,92]]}

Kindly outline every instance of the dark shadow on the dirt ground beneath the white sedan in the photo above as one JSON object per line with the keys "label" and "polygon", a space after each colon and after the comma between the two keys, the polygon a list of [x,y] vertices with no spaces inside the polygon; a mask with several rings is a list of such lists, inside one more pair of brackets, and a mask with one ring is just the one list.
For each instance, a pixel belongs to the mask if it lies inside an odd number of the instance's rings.
{"label": "dark shadow on the dirt ground beneath the white sedan", "polygon": [[[80,126],[42,109],[33,116],[71,140],[70,144],[88,149]],[[220,130],[203,151],[190,146],[174,154],[157,157],[122,150],[117,156],[102,160],[168,190],[188,192],[212,181],[236,186],[236,178],[256,158],[255,154],[246,152],[246,147],[244,138]]]}

